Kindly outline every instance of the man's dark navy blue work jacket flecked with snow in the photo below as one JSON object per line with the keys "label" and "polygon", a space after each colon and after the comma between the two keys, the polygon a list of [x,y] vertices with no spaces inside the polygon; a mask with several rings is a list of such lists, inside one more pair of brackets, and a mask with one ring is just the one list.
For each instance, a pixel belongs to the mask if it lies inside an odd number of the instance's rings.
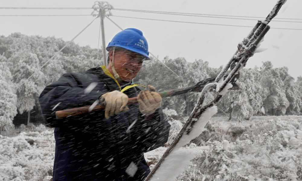
{"label": "man's dark navy blue work jacket flecked with snow", "polygon": [[[97,86],[84,94],[92,82]],[[83,74],[64,74],[41,93],[43,115],[47,125],[55,128],[53,181],[144,180],[150,172],[143,153],[162,146],[169,136],[170,125],[161,109],[148,119],[142,116],[138,104],[129,105],[129,111],[110,119],[104,118],[103,110],[63,119],[55,117],[55,111],[92,105],[113,90],[120,90],[116,82],[101,68],[91,68]],[[138,90],[133,87],[124,93],[129,98],[137,97]],[[126,132],[134,121],[130,132]],[[137,167],[134,176],[126,172],[131,163]]]}

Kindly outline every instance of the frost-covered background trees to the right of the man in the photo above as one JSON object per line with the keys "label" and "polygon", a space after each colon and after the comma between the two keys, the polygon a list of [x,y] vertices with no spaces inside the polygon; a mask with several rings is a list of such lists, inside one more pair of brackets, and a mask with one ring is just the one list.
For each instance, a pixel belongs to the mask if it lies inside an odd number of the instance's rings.
{"label": "frost-covered background trees to the right of the man", "polygon": [[[163,62],[175,73],[167,70],[156,60],[145,62],[137,80],[143,84],[155,85],[159,91],[166,91],[195,85],[198,81],[217,76],[223,68],[211,68],[208,62],[184,58],[169,59]],[[262,62],[261,67],[243,68],[236,81],[239,90],[228,91],[217,104],[218,113],[232,114],[234,117],[249,119],[255,115],[300,115],[302,111],[302,77],[295,81],[288,74],[287,67],[273,68],[271,62]],[[183,94],[165,98],[163,107],[176,110],[182,116],[189,116],[198,100],[198,93]],[[207,95],[206,101],[215,97]],[[263,107],[263,108],[262,108]],[[261,110],[264,109],[264,113]]]}

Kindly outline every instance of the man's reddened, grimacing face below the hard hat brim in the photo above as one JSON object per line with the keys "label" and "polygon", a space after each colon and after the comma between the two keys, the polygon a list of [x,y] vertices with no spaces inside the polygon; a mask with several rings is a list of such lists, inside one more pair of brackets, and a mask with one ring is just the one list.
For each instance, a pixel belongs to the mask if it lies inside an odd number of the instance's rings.
{"label": "man's reddened, grimacing face below the hard hat brim", "polygon": [[[112,53],[109,52],[109,56],[112,60]],[[115,70],[123,81],[131,81],[142,68],[144,58],[144,56],[129,50],[118,50],[114,52]]]}

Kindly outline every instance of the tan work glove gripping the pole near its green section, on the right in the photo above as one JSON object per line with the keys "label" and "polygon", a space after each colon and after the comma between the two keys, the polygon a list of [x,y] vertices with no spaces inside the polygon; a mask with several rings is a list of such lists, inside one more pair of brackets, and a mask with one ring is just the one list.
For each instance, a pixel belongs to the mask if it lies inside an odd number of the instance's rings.
{"label": "tan work glove gripping the pole near its green section, on the right", "polygon": [[144,116],[153,114],[162,103],[162,97],[156,93],[155,88],[151,85],[148,85],[148,87],[149,90],[142,90],[137,96],[137,101],[140,104],[140,112]]}

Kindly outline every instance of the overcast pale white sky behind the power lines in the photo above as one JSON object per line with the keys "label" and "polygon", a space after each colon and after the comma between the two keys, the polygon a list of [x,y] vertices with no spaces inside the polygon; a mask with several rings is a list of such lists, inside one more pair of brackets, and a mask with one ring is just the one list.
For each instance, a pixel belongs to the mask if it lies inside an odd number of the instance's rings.
{"label": "overcast pale white sky behind the power lines", "polygon": [[[91,8],[95,0],[1,0],[0,7],[81,7]],[[197,14],[217,14],[233,16],[266,17],[274,7],[277,0],[152,0],[152,1],[108,1],[114,8],[136,9],[149,11],[169,11]],[[288,0],[279,11],[276,18],[296,18],[302,19],[302,1]],[[0,9],[0,15],[38,15],[38,14],[91,14],[92,9],[86,10],[20,10],[20,9]],[[206,18],[193,16],[177,16],[165,14],[151,14],[142,12],[129,12],[111,10],[113,15],[142,17],[172,21],[186,21],[210,24],[229,24],[240,26],[254,26],[256,20],[235,20],[223,18]],[[11,17],[0,16],[0,35],[8,36],[14,32],[26,35],[40,35],[43,37],[55,36],[63,38],[65,41],[71,40],[94,17],[92,16],[68,16],[68,17]],[[130,19],[124,17],[114,17],[120,27],[138,28],[143,31],[149,43],[149,51],[163,59],[165,56],[175,59],[184,57],[188,62],[195,59],[208,61],[211,67],[225,65],[233,53],[237,44],[243,40],[252,28],[231,27],[207,24],[189,24],[167,21]],[[254,18],[262,20],[262,18]],[[276,19],[277,20],[277,19]],[[280,20],[280,19],[278,19]],[[300,21],[302,20],[282,20]],[[295,79],[302,76],[301,56],[302,30],[281,30],[273,28],[293,28],[302,29],[302,23],[297,22],[277,22],[270,23],[271,30],[265,36],[262,48],[267,48],[265,52],[256,53],[249,59],[247,67],[260,67],[262,62],[271,61],[274,67],[286,66],[289,74]],[[89,45],[92,48],[98,47],[98,32],[100,21],[95,20],[74,42],[80,46]],[[112,37],[120,31],[107,18],[104,20],[106,45]],[[101,43],[100,43],[101,45]],[[101,62],[100,62],[101,64]]]}

